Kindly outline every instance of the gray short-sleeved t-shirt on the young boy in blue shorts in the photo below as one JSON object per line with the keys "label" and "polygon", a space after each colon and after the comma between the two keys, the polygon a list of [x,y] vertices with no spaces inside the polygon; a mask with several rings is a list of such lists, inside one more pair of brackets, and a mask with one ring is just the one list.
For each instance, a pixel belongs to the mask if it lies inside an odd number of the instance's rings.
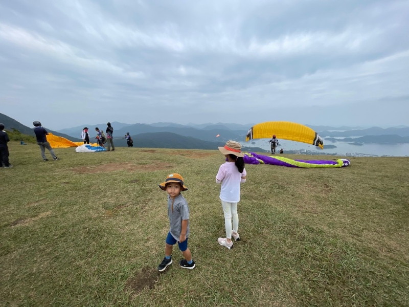
{"label": "gray short-sleeved t-shirt on the young boy in blue shorts", "polygon": [[[168,216],[170,223],[170,234],[179,241],[180,232],[182,230],[182,220],[189,220],[189,206],[188,202],[185,200],[182,194],[175,197],[173,202],[173,213],[172,213],[172,201],[170,195],[168,194]],[[186,237],[189,236],[189,221],[188,229],[186,230]]]}

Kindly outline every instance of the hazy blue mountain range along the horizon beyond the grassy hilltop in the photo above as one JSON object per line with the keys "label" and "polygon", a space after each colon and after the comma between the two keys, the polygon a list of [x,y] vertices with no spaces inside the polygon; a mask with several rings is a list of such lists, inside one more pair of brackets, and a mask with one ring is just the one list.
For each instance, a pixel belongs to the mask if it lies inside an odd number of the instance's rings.
{"label": "hazy blue mountain range along the horizon beyond the grassy hilltop", "polygon": [[[0,122],[6,126],[6,130],[12,128],[18,129],[21,133],[34,136],[32,128],[27,127],[16,120],[0,113]],[[214,149],[217,146],[223,146],[227,140],[235,140],[247,145],[244,140],[247,131],[254,124],[232,124],[232,123],[207,123],[181,125],[171,122],[158,122],[153,124],[126,124],[120,122],[111,122],[114,128],[113,137],[117,146],[127,146],[126,140],[122,138],[127,132],[134,140],[135,147],[151,148],[186,148],[186,149]],[[90,129],[90,136],[94,136],[95,127],[106,129],[106,123],[102,124],[84,124],[72,128],[65,128],[58,131],[47,129],[50,133],[69,139],[74,142],[81,141],[80,134],[84,127]],[[371,127],[362,129],[359,127],[330,127],[330,126],[312,126],[312,129],[332,142],[357,142],[357,143],[409,143],[409,127],[380,128]],[[359,129],[358,129],[359,128]],[[344,131],[339,131],[344,130]],[[359,138],[350,138],[357,136]],[[335,139],[335,137],[344,137],[344,139]],[[254,150],[257,150],[256,148]],[[262,149],[261,149],[262,150]]]}

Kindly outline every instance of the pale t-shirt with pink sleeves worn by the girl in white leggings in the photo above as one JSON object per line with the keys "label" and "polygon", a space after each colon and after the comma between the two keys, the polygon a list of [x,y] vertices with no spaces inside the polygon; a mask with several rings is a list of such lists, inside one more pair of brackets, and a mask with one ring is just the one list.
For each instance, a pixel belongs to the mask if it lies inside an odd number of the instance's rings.
{"label": "pale t-shirt with pink sleeves worn by the girl in white leggings", "polygon": [[219,167],[216,182],[221,182],[220,199],[226,203],[238,203],[240,201],[241,177],[246,176],[246,169],[240,173],[234,162],[226,162]]}

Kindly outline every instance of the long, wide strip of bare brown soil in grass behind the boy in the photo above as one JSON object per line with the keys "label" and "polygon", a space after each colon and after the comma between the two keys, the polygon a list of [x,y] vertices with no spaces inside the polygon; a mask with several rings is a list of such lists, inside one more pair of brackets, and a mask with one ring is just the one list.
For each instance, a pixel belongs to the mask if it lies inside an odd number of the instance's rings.
{"label": "long, wide strip of bare brown soil in grass behind the boy", "polygon": [[116,170],[127,170],[127,171],[152,171],[152,170],[161,170],[161,169],[168,169],[172,168],[173,165],[169,165],[168,163],[152,163],[148,165],[135,165],[130,163],[107,163],[105,165],[99,166],[82,166],[76,167],[72,170],[76,173],[84,174],[84,173],[97,173],[97,172],[110,172]]}

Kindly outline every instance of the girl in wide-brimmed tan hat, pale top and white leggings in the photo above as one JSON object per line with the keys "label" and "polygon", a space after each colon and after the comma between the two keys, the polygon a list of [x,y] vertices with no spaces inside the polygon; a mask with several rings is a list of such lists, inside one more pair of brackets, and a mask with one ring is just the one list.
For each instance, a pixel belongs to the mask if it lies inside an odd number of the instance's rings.
{"label": "girl in wide-brimmed tan hat, pale top and white leggings", "polygon": [[[227,162],[220,165],[216,175],[216,183],[221,183],[220,200],[224,212],[224,224],[226,237],[218,238],[221,246],[228,249],[233,247],[232,236],[235,241],[240,240],[238,234],[239,216],[237,215],[237,203],[240,201],[240,183],[246,182],[246,170],[244,168],[244,153],[241,145],[235,141],[228,141],[219,150],[227,158]],[[232,231],[233,216],[233,231]]]}

